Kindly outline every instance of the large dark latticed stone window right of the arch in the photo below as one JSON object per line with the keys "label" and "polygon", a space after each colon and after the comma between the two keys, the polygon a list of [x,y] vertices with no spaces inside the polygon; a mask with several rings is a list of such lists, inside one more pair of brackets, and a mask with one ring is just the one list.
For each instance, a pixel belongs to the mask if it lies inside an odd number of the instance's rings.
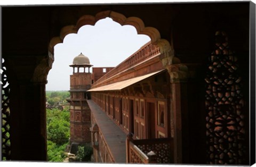
{"label": "large dark latticed stone window right of the arch", "polygon": [[237,57],[225,32],[215,33],[215,51],[206,72],[207,160],[210,164],[243,164],[244,99]]}

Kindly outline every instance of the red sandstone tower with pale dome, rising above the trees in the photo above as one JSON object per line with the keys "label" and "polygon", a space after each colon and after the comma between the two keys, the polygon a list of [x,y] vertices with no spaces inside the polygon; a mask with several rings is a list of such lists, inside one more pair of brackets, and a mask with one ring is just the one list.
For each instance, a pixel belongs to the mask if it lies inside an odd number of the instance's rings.
{"label": "red sandstone tower with pale dome, rising above the trees", "polygon": [[91,65],[88,57],[82,53],[76,56],[70,75],[70,143],[85,144],[91,141],[91,111],[87,104],[90,95],[86,90],[91,88]]}

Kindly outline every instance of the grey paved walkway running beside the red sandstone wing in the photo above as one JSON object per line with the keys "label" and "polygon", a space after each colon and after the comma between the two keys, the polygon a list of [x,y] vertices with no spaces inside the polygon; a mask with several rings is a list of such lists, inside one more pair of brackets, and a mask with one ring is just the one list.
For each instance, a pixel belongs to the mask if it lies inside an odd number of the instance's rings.
{"label": "grey paved walkway running beside the red sandstone wing", "polygon": [[126,163],[125,133],[92,100],[87,100],[115,163]]}

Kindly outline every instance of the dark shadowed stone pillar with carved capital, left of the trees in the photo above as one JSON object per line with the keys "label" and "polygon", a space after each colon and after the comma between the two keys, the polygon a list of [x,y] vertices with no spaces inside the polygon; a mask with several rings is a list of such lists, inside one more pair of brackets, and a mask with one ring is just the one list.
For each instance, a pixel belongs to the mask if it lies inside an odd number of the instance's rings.
{"label": "dark shadowed stone pillar with carved capital, left of the trees", "polygon": [[38,60],[30,56],[7,59],[12,161],[47,160],[45,84],[52,60],[47,56]]}

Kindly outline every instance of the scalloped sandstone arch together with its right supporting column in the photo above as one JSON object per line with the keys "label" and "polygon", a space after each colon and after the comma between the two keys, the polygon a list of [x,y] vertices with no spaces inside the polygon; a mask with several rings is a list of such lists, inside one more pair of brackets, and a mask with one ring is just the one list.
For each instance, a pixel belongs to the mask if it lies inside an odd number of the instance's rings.
{"label": "scalloped sandstone arch together with its right supporting column", "polygon": [[[181,82],[186,83],[188,78],[188,68],[185,64],[181,64],[180,60],[177,57],[174,57],[173,47],[170,45],[169,41],[166,39],[162,39],[159,31],[154,27],[145,27],[145,24],[140,18],[137,17],[129,17],[126,18],[123,14],[117,13],[114,11],[103,11],[97,13],[95,16],[92,15],[84,15],[78,19],[76,25],[65,26],[60,31],[60,36],[53,37],[49,44],[49,65],[54,60],[54,46],[63,43],[63,39],[68,34],[77,34],[79,28],[85,25],[94,26],[94,24],[105,18],[111,18],[113,21],[118,22],[121,26],[130,25],[135,27],[137,30],[137,34],[147,35],[151,39],[151,43],[159,48],[161,53],[160,59],[162,61],[163,66],[167,69],[170,74],[170,79],[172,83],[172,89],[175,90],[175,93],[172,95],[173,101],[180,101],[181,94]],[[184,85],[184,84],[183,84]],[[186,92],[182,92],[186,94]],[[182,133],[181,133],[181,113],[182,105],[186,105],[185,103],[175,103],[173,104],[173,123],[172,124],[172,133],[174,134],[174,162],[181,163],[182,162]]]}

